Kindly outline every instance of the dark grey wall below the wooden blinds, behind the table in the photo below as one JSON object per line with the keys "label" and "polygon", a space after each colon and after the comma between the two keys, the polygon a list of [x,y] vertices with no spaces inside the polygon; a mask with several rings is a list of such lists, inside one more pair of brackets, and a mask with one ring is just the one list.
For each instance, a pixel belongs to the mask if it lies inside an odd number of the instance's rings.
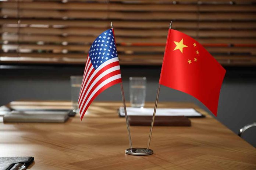
{"label": "dark grey wall below the wooden blinds, behind the table", "polygon": [[[33,66],[21,69],[0,68],[0,105],[18,99],[70,100],[70,75],[81,75],[83,66]],[[256,68],[225,68],[217,119],[238,133],[242,126],[256,122]],[[121,66],[126,99],[129,100],[129,77],[147,77],[146,101],[156,98],[160,67]],[[96,100],[121,100],[120,86],[114,85]],[[185,93],[161,87],[159,101],[202,103]],[[209,112],[209,110],[207,110]],[[256,128],[245,133],[245,140],[256,147]]]}

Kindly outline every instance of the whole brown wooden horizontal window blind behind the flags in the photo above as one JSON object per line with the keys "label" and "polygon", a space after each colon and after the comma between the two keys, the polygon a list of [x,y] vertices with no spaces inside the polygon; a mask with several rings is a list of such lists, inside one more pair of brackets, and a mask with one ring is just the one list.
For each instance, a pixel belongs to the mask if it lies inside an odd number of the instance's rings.
{"label": "whole brown wooden horizontal window blind behind the flags", "polygon": [[84,64],[113,22],[121,64],[161,65],[170,21],[223,65],[256,66],[256,0],[7,0],[0,63]]}

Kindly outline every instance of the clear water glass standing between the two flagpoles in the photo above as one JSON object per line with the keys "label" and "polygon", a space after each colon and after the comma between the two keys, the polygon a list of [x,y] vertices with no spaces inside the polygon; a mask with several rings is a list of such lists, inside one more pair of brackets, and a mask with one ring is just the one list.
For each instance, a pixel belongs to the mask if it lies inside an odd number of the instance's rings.
{"label": "clear water glass standing between the two flagpoles", "polygon": [[146,99],[146,77],[130,77],[130,103],[132,107],[144,107]]}

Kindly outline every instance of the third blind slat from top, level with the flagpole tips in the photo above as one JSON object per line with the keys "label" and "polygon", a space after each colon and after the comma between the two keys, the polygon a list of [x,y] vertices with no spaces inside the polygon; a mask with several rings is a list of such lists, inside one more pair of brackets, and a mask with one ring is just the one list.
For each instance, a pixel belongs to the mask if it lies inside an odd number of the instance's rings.
{"label": "third blind slat from top, level with the flagpole tips", "polygon": [[[0,24],[17,24],[17,19],[0,19]],[[59,27],[96,27],[109,28],[108,21],[75,21],[75,20],[49,20],[49,19],[22,19],[21,24],[24,25],[49,25]],[[134,28],[134,29],[168,29],[170,21],[112,21],[115,28]],[[187,29],[255,29],[256,22],[251,21],[175,21],[174,28]]]}

